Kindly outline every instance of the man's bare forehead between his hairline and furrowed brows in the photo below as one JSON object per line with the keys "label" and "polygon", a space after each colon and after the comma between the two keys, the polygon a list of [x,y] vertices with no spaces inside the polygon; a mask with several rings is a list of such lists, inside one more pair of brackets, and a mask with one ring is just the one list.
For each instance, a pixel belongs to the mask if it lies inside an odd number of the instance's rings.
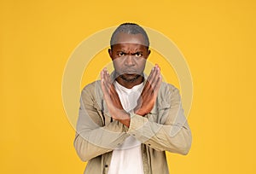
{"label": "man's bare forehead between his hairline and furrowed brows", "polygon": [[124,32],[119,32],[113,44],[137,44],[137,45],[144,45],[146,46],[145,38],[143,34],[128,34]]}

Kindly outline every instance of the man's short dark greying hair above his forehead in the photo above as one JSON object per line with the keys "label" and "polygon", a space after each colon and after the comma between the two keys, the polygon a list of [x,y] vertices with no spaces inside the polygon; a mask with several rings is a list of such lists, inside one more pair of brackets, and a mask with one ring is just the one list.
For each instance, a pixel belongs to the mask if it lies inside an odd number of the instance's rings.
{"label": "man's short dark greying hair above his forehead", "polygon": [[145,32],[142,26],[139,26],[135,23],[126,22],[119,25],[115,31],[113,32],[111,39],[110,39],[110,46],[112,48],[113,44],[115,43],[116,36],[120,33],[124,32],[127,34],[142,34],[143,38],[145,39],[145,46],[149,47],[149,39],[148,34]]}

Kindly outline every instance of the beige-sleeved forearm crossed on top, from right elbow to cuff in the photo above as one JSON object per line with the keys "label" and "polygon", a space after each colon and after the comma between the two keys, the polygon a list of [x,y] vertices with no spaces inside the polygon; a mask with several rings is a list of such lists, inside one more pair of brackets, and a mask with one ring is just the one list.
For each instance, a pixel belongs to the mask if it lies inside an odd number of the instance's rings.
{"label": "beige-sleeved forearm crossed on top, from right elbow to cuff", "polygon": [[134,115],[128,134],[149,147],[177,154],[188,154],[191,146],[189,125],[161,125],[148,118]]}

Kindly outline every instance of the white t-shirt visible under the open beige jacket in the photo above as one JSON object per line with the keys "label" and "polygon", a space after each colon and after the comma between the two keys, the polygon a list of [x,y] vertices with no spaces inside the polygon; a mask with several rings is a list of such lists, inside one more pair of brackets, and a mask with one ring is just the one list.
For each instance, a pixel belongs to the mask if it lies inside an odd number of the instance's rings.
{"label": "white t-shirt visible under the open beige jacket", "polygon": [[[143,83],[127,89],[117,81],[114,86],[126,112],[137,106],[137,99],[143,90]],[[143,174],[143,159],[141,142],[133,136],[128,136],[123,144],[113,150],[108,174]]]}

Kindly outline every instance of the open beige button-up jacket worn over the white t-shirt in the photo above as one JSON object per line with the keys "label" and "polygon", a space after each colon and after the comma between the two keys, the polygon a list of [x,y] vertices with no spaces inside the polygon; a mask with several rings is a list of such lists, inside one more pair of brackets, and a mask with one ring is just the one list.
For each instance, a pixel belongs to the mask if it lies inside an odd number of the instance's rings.
{"label": "open beige button-up jacket worn over the white t-shirt", "polygon": [[109,116],[101,82],[88,84],[81,93],[76,131],[74,148],[80,159],[89,160],[84,173],[90,174],[108,173],[113,149],[127,136],[142,142],[145,174],[169,173],[165,151],[188,154],[191,146],[179,91],[166,83],[161,84],[150,113],[144,117],[131,113],[129,128]]}

